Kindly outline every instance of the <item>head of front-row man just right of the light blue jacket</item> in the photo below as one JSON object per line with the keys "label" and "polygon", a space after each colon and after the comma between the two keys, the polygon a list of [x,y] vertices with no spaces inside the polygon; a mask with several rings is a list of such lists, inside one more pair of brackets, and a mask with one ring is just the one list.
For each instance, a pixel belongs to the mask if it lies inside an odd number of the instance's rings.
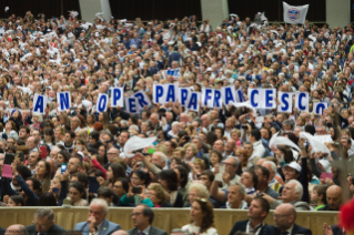
{"label": "head of front-row man just right of the light blue jacket", "polygon": [[149,225],[152,224],[154,213],[150,206],[141,204],[135,206],[131,216],[134,227],[139,231],[144,231]]}

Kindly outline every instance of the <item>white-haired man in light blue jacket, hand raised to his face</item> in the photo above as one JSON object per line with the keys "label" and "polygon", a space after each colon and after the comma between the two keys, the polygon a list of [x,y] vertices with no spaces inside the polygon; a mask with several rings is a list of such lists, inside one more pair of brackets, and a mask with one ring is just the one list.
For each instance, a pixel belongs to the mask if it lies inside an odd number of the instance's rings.
{"label": "white-haired man in light blue jacket, hand raised to his face", "polygon": [[95,198],[90,204],[89,218],[75,225],[75,231],[82,235],[111,235],[120,231],[121,226],[105,218],[108,214],[108,204],[104,200]]}

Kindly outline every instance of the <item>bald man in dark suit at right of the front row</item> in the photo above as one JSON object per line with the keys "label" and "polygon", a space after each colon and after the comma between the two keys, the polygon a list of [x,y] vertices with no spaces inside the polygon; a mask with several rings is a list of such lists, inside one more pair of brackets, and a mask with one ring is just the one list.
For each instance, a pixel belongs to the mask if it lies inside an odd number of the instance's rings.
{"label": "bald man in dark suit at right of the front row", "polygon": [[296,211],[290,203],[279,205],[273,213],[274,225],[265,228],[265,234],[272,235],[312,235],[311,229],[295,224]]}

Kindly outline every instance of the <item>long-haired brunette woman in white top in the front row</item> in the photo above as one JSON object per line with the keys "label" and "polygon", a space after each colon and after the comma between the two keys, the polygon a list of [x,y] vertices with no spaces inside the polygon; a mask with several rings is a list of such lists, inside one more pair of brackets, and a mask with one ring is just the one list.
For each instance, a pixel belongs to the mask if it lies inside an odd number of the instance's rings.
{"label": "long-haired brunette woman in white top in the front row", "polygon": [[214,228],[213,204],[201,197],[194,198],[191,207],[191,224],[184,225],[183,231],[198,235],[218,235]]}

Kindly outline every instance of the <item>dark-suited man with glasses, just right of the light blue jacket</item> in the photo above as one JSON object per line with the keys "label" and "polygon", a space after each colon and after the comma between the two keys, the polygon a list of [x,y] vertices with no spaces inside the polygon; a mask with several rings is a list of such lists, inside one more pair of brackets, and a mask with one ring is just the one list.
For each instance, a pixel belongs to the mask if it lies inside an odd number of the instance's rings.
{"label": "dark-suited man with glasses, just right of the light blue jacket", "polygon": [[127,231],[129,235],[168,235],[165,231],[151,226],[154,218],[154,213],[151,207],[145,204],[135,206],[131,217],[134,228]]}

